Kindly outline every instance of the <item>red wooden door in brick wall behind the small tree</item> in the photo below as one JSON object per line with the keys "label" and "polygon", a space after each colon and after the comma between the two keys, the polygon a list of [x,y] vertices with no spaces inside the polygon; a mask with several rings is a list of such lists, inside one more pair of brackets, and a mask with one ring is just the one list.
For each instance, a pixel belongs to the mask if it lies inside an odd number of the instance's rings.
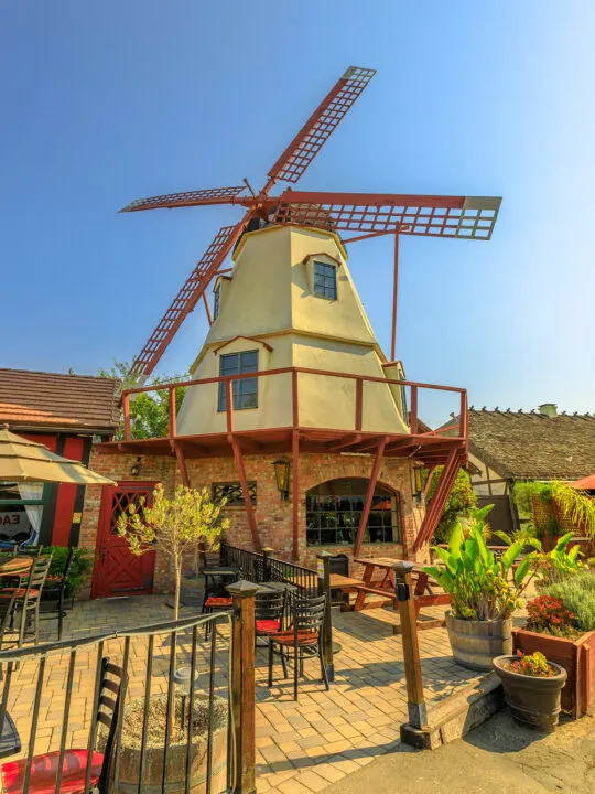
{"label": "red wooden door in brick wall behind the small tree", "polygon": [[133,555],[125,538],[117,535],[118,517],[130,503],[140,504],[145,497],[150,504],[153,483],[119,483],[104,487],[97,549],[93,572],[91,598],[110,596],[142,596],[153,591],[155,552]]}

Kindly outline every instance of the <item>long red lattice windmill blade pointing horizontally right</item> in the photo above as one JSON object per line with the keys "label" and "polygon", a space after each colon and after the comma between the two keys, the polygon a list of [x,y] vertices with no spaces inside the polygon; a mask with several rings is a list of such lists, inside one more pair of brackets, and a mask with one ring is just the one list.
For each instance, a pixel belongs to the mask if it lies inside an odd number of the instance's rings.
{"label": "long red lattice windmill blade pointing horizontally right", "polygon": [[316,226],[361,235],[414,237],[491,237],[501,198],[496,196],[381,195],[375,193],[302,193],[278,200],[273,223]]}

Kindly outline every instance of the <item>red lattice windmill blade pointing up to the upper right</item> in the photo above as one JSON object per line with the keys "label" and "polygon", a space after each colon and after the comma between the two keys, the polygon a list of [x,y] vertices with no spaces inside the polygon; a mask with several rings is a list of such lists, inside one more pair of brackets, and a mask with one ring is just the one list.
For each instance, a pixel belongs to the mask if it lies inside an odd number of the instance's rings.
{"label": "red lattice windmill blade pointing up to the upper right", "polygon": [[375,74],[349,66],[269,171],[269,187],[277,180],[298,182]]}

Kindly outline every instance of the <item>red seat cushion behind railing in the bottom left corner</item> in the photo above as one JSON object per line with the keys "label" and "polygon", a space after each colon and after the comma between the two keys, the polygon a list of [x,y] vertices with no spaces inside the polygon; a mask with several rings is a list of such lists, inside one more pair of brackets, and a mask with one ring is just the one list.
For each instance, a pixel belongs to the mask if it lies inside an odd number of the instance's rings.
{"label": "red seat cushion behind railing in the bottom left corner", "polygon": [[[66,750],[62,764],[61,794],[84,794],[85,771],[88,752],[86,750]],[[54,794],[58,769],[60,752],[35,755],[31,764],[29,794]],[[104,755],[98,752],[91,758],[91,785],[96,785],[101,774]],[[2,764],[2,783],[4,794],[22,794],[26,759],[7,761]]]}

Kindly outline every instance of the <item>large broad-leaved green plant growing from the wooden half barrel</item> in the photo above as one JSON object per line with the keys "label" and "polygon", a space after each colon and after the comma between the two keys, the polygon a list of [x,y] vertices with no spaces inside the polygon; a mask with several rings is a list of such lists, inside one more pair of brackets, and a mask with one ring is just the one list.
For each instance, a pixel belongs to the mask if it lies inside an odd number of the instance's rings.
{"label": "large broad-leaved green plant growing from the wooden half barrel", "polygon": [[494,505],[475,509],[465,537],[458,522],[447,549],[434,547],[444,568],[429,566],[424,571],[451,596],[453,613],[464,620],[504,620],[521,607],[520,594],[530,580],[534,552],[529,554],[511,576],[512,565],[523,543],[510,544],[499,559],[488,548],[486,517]]}

